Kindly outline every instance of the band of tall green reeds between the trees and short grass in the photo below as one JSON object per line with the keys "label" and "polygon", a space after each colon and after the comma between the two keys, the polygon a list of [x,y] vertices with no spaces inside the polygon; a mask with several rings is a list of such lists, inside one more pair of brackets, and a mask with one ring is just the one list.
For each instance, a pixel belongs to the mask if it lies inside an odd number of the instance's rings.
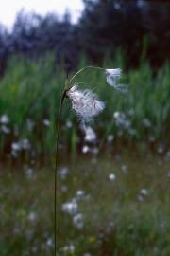
{"label": "band of tall green reeds between the trees and short grass", "polygon": [[[82,60],[80,67],[87,65]],[[119,53],[115,60],[103,64],[106,68],[121,67],[124,61]],[[92,124],[98,137],[112,134],[120,145],[135,145],[140,152],[148,149],[157,151],[160,143],[164,150],[169,146],[170,128],[170,65],[164,64],[156,74],[145,61],[136,70],[123,71],[123,83],[128,86],[127,95],[112,89],[106,82],[103,73],[96,70],[86,70],[76,82],[84,82],[81,87],[95,88],[94,91],[101,100],[107,102],[104,113]],[[10,122],[9,134],[1,133],[0,154],[8,155],[11,143],[28,138],[34,155],[53,155],[55,143],[55,120],[59,113],[59,99],[64,87],[65,74],[56,66],[53,58],[46,57],[41,61],[30,61],[12,58],[4,77],[0,81],[0,116],[7,114]],[[60,143],[65,150],[79,148],[82,142],[75,113],[70,109],[70,103],[65,101],[62,112],[62,132]],[[123,124],[117,127],[113,113],[119,111],[125,114],[130,126]],[[46,127],[43,120],[48,119]],[[151,126],[144,124],[150,122]],[[28,123],[33,122],[30,129]],[[67,128],[66,123],[72,122]],[[97,125],[96,125],[97,124]],[[153,138],[152,140],[150,139]],[[28,158],[30,152],[19,156]],[[18,156],[18,157],[19,157]]]}

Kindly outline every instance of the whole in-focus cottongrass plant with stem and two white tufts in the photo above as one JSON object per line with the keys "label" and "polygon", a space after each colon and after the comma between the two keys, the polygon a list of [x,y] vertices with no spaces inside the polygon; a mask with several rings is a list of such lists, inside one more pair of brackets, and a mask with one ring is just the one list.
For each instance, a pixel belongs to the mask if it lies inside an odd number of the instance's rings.
{"label": "whole in-focus cottongrass plant with stem and two white tufts", "polygon": [[[96,94],[92,90],[81,90],[79,84],[74,83],[74,79],[78,74],[80,74],[85,69],[98,69],[103,72],[106,76],[106,81],[108,84],[116,90],[121,92],[126,92],[127,88],[125,85],[119,84],[118,80],[121,77],[121,69],[105,69],[98,66],[85,66],[81,68],[76,74],[69,80],[67,78],[65,82],[65,88],[62,92],[59,106],[59,117],[57,123],[57,138],[56,138],[56,167],[55,167],[55,255],[57,255],[57,190],[59,189],[59,179],[58,179],[58,151],[59,151],[59,128],[60,128],[60,116],[63,106],[63,101],[68,98],[72,103],[72,108],[76,112],[77,118],[81,122],[81,127],[86,127],[86,123],[93,120],[98,116],[104,109],[106,102],[100,101]],[[59,191],[58,191],[59,196]]]}

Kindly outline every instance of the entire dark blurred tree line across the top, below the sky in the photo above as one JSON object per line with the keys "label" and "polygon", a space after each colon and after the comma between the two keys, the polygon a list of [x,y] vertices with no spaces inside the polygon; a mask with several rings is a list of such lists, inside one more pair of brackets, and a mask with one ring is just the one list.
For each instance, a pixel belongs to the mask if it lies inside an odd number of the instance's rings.
{"label": "entire dark blurred tree line across the top, below the sky", "polygon": [[170,57],[170,3],[163,0],[84,0],[85,9],[76,25],[69,14],[20,12],[11,31],[0,27],[0,73],[8,57],[24,55],[42,59],[52,52],[58,64],[75,68],[83,53],[91,62],[112,58],[121,46],[127,67],[139,64],[145,55],[153,67]]}

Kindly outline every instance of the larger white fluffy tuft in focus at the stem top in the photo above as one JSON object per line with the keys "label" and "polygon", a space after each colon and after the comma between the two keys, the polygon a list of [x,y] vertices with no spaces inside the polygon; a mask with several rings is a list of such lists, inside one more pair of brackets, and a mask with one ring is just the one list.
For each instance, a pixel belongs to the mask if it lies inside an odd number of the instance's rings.
{"label": "larger white fluffy tuft in focus at the stem top", "polygon": [[79,90],[77,85],[73,85],[66,92],[66,95],[72,101],[72,107],[82,121],[88,122],[92,120],[105,108],[105,102],[99,101],[92,91]]}

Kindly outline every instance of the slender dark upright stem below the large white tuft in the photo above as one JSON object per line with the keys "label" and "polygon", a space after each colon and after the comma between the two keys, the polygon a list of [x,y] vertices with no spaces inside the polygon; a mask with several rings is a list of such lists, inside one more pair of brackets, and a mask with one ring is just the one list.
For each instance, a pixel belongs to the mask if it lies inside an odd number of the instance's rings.
{"label": "slender dark upright stem below the large white tuft", "polygon": [[[61,99],[60,99],[60,105],[59,105],[59,116],[58,116],[58,122],[56,123],[56,130],[57,130],[57,137],[56,137],[56,163],[55,163],[55,201],[54,201],[54,207],[55,207],[55,256],[57,255],[57,190],[59,192],[59,181],[58,181],[58,167],[59,167],[59,130],[60,130],[60,117],[61,117],[61,111],[62,111],[62,104],[64,101],[66,94],[65,91],[62,93]],[[59,195],[58,195],[59,197]]]}

